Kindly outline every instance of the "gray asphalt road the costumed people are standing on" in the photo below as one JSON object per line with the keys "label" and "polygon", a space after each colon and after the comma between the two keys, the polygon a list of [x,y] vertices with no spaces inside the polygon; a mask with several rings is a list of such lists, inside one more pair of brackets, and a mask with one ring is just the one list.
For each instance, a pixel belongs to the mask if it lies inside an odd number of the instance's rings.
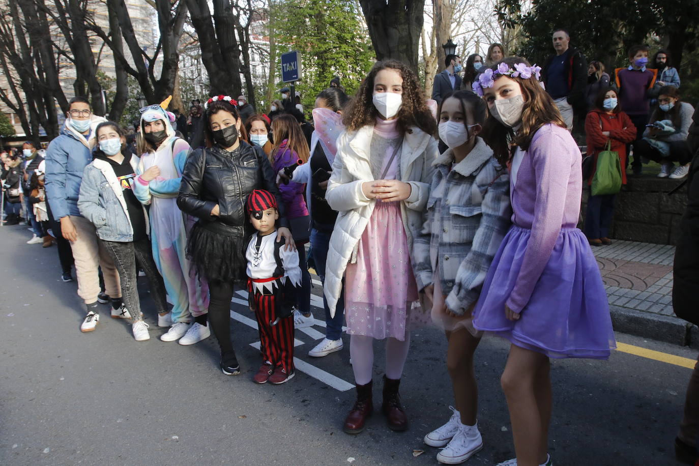
{"label": "gray asphalt road the costumed people are standing on", "polygon": [[[410,429],[391,432],[376,415],[363,433],[350,436],[341,430],[354,401],[352,390],[343,391],[352,382],[348,337],[345,350],[315,360],[307,352],[317,335],[297,331],[297,356],[312,375],[298,372],[288,384],[257,386],[251,377],[259,353],[250,346],[257,331],[245,323],[250,312],[237,303],[231,328],[243,368],[238,377],[217,369],[213,337],[192,347],[158,340],[164,330],[154,325],[147,298],[150,341],[135,342],[126,323],[108,319],[106,307],[98,328],[82,334],[75,283],[60,281],[55,248],[25,245],[28,238],[24,227],[0,228],[0,464],[436,464],[436,449],[421,438],[447,420],[452,403],[438,330],[413,335],[401,387]],[[670,344],[617,338],[633,345],[630,351],[697,357],[695,350]],[[478,350],[486,444],[467,465],[512,457],[498,382],[506,356],[507,346],[494,338]],[[378,344],[376,360],[379,380]],[[690,372],[621,351],[610,361],[554,361],[555,464],[675,465],[672,441]],[[414,457],[414,450],[425,452]]]}

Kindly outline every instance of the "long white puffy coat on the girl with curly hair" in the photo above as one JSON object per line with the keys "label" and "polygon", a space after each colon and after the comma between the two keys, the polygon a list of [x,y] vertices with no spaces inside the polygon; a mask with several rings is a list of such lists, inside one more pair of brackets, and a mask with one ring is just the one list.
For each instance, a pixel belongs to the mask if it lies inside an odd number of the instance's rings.
{"label": "long white puffy coat on the girl with curly hair", "polygon": [[[368,125],[340,135],[333,174],[325,195],[330,207],[340,212],[330,238],[325,270],[324,293],[332,316],[335,315],[347,263],[356,259],[356,247],[376,204],[361,190],[364,182],[374,180],[369,163],[373,133],[373,126]],[[401,181],[409,183],[412,191],[410,197],[401,202],[401,216],[411,251],[412,238],[419,233],[422,210],[427,203],[434,173],[432,163],[438,155],[435,138],[418,128],[405,133],[401,148]]]}

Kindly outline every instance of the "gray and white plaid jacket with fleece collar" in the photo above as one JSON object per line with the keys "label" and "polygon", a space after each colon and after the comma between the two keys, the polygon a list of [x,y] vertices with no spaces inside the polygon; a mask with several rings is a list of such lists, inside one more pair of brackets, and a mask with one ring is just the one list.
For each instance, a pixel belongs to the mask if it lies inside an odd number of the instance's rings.
{"label": "gray and white plaid jacket with fleece collar", "polygon": [[510,228],[512,208],[510,175],[493,159],[484,140],[476,138],[468,156],[449,170],[452,163],[451,149],[434,162],[435,175],[412,263],[418,289],[438,277],[447,308],[461,315],[480,295],[488,268]]}

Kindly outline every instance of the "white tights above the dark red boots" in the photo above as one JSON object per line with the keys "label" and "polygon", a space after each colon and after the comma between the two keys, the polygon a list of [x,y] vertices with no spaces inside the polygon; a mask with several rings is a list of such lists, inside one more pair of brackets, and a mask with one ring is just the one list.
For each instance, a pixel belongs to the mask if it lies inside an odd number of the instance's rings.
{"label": "white tights above the dark red boots", "polygon": [[[386,377],[400,379],[403,366],[408,358],[410,332],[405,332],[405,340],[386,339]],[[374,368],[374,338],[366,335],[351,335],[349,338],[349,356],[352,358],[354,383],[366,385],[372,379]]]}

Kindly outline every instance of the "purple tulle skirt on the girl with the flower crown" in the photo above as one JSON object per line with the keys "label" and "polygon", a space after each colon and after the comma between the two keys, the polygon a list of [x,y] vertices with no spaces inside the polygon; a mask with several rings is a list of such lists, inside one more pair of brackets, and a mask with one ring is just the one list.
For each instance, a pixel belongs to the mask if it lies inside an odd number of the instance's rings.
{"label": "purple tulle skirt on the girl with the flower crown", "polygon": [[577,228],[561,229],[521,317],[505,318],[530,235],[519,226],[505,235],[473,312],[473,326],[550,358],[609,358],[617,344],[607,293],[595,256]]}

